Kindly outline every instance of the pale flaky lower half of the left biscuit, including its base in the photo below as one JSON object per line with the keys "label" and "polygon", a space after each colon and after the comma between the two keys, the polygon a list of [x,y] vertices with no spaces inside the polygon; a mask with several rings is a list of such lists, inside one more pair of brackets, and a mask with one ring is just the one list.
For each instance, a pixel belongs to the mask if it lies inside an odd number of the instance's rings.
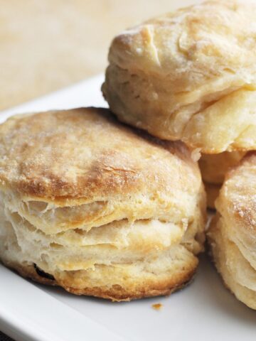
{"label": "pale flaky lower half of the left biscuit, including its base", "polygon": [[203,224],[198,207],[189,225],[121,220],[90,232],[45,234],[1,200],[0,259],[23,276],[79,295],[113,301],[166,295],[193,276]]}

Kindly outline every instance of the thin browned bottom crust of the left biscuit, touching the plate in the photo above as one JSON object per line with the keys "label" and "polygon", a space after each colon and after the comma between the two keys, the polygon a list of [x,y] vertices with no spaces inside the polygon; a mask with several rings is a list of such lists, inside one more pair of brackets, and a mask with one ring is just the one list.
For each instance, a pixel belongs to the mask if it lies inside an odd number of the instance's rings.
{"label": "thin browned bottom crust of the left biscuit, touching the plate", "polygon": [[[121,302],[154,296],[169,296],[171,293],[181,290],[193,281],[193,277],[196,274],[196,268],[198,266],[198,259],[195,257],[183,273],[180,273],[177,276],[162,274],[159,278],[153,278],[152,276],[151,279],[140,276],[139,278],[132,278],[133,283],[129,283],[129,286],[125,287],[122,287],[119,284],[115,284],[111,287],[104,286],[104,284],[102,286],[93,286],[90,281],[86,281],[86,283],[83,283],[82,288],[77,288],[74,286],[73,278],[70,279],[68,275],[62,276],[61,279],[55,279],[52,281],[38,275],[33,265],[21,265],[18,263],[10,264],[9,262],[4,264],[10,269],[18,272],[18,274],[24,278],[29,278],[37,283],[48,286],[60,286],[64,288],[65,291],[79,296],[95,296],[98,298],[105,298],[112,302]],[[77,276],[80,277],[80,274],[77,274]],[[145,279],[147,280],[145,281]]]}

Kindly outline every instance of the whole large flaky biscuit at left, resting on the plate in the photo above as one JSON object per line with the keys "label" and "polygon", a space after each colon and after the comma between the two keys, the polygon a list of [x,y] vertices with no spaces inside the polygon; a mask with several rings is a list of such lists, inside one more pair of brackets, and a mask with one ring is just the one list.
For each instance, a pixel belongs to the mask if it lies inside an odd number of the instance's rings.
{"label": "whole large flaky biscuit at left, resting on the plate", "polygon": [[16,116],[0,126],[0,259],[71,293],[129,301],[191,280],[205,194],[181,142],[107,109]]}

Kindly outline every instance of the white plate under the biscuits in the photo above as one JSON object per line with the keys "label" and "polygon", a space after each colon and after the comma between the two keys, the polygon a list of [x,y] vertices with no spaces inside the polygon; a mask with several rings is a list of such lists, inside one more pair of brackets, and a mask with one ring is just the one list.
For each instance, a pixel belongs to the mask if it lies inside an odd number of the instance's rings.
{"label": "white plate under the biscuits", "polygon": [[[106,106],[102,76],[2,112]],[[162,303],[160,311],[151,308]],[[250,341],[256,312],[238,302],[202,256],[195,281],[170,297],[111,303],[31,283],[0,265],[0,330],[16,340]]]}

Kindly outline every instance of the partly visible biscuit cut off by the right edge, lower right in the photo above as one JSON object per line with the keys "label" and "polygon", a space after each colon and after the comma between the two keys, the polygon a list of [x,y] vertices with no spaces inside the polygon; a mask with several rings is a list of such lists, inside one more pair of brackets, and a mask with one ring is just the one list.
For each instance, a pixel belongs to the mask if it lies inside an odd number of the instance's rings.
{"label": "partly visible biscuit cut off by the right edge, lower right", "polygon": [[208,230],[215,266],[238,300],[256,309],[256,152],[225,178]]}

